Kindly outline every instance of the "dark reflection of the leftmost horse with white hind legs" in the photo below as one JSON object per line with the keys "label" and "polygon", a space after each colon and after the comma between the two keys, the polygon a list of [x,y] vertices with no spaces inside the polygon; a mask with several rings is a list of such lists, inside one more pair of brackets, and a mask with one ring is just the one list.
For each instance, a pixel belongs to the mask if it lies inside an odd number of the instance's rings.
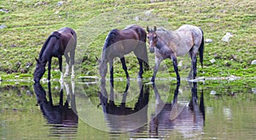
{"label": "dark reflection of the leftmost horse with white hind legs", "polygon": [[[75,105],[75,95],[74,95],[74,83],[72,83],[72,89],[69,88],[69,84],[64,82],[67,92],[67,100],[63,104],[63,89],[60,92],[60,102],[54,105],[52,96],[50,82],[48,82],[49,90],[49,101],[46,98],[46,92],[44,87],[41,86],[39,82],[34,84],[34,90],[37,95],[38,104],[40,109],[47,119],[49,126],[54,126],[51,131],[53,136],[58,135],[76,135],[78,129],[78,115]],[[71,101],[71,108],[69,108],[69,101]]]}

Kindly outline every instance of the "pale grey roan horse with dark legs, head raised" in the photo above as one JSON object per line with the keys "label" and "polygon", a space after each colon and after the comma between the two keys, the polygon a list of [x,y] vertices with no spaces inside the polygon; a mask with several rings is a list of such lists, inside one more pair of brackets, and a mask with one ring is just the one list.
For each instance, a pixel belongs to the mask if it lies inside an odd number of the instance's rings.
{"label": "pale grey roan horse with dark legs, head raised", "polygon": [[203,52],[204,52],[204,36],[200,27],[195,25],[182,25],[176,31],[166,31],[165,29],[156,29],[148,31],[148,46],[149,52],[155,54],[154,78],[159,69],[160,62],[163,59],[172,59],[172,64],[176,72],[177,81],[180,81],[180,76],[177,70],[177,56],[183,56],[189,53],[191,58],[191,70],[189,78],[193,79],[196,76],[196,55],[199,52],[201,67],[203,66]]}

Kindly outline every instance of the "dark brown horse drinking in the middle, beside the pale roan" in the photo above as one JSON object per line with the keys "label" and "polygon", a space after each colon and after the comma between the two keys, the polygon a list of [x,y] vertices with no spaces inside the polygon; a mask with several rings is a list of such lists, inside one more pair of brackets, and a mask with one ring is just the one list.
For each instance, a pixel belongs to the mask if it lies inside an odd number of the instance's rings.
{"label": "dark brown horse drinking in the middle, beside the pale roan", "polygon": [[105,76],[110,68],[110,81],[113,81],[113,59],[119,57],[123,70],[125,70],[126,81],[130,81],[130,76],[125,64],[125,54],[133,52],[137,56],[140,65],[138,78],[143,78],[144,70],[148,70],[148,53],[146,47],[147,32],[138,25],[127,26],[124,30],[113,29],[108,33],[105,40],[102,58],[99,60],[99,72],[102,81],[105,81]]}

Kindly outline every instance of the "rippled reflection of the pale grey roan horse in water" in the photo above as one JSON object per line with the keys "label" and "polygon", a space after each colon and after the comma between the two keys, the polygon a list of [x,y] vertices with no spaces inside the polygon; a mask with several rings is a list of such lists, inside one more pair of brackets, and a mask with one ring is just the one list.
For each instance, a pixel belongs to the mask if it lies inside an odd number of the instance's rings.
{"label": "rippled reflection of the pale grey roan horse in water", "polygon": [[[191,83],[189,83],[191,86]],[[154,93],[156,97],[155,116],[151,118],[149,133],[151,137],[164,136],[167,132],[179,132],[183,138],[197,137],[203,131],[205,121],[205,108],[203,92],[201,91],[200,104],[198,106],[197,83],[191,87],[192,96],[189,104],[178,104],[177,95],[180,84],[174,92],[172,104],[163,103],[160,93],[155,85]]]}

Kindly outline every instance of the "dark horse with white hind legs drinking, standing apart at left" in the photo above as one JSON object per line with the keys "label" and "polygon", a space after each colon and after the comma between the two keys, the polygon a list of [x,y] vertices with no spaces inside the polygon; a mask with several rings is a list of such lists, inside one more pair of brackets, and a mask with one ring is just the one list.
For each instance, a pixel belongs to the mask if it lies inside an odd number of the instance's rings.
{"label": "dark horse with white hind legs drinking, standing apart at left", "polygon": [[[72,68],[72,78],[74,78],[74,55],[75,48],[77,45],[77,35],[73,29],[69,27],[63,27],[58,31],[54,31],[49,35],[47,40],[44,42],[43,48],[39,53],[39,59],[35,58],[37,61],[36,69],[33,73],[34,81],[38,82],[44,76],[45,65],[48,62],[48,81],[50,80],[50,69],[51,69],[51,59],[56,57],[59,59],[59,65],[61,70],[61,79],[63,80],[62,74],[62,55],[66,57],[67,67],[64,76],[68,76],[69,73],[69,60]],[[69,56],[68,56],[68,53]]]}

